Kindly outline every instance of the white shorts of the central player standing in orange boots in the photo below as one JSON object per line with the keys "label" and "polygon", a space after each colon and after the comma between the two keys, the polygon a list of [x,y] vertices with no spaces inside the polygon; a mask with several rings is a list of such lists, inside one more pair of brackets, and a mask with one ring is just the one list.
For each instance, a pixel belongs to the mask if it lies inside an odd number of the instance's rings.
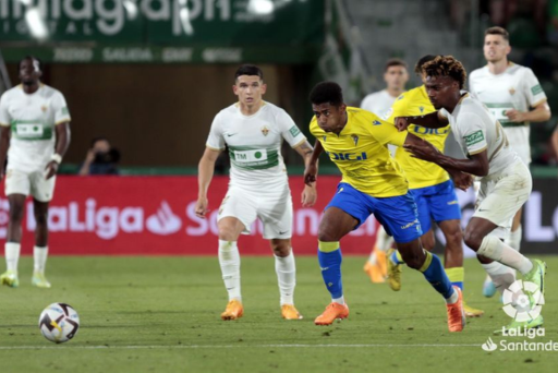
{"label": "white shorts of the central player standing in orange boots", "polygon": [[217,220],[232,216],[244,225],[243,234],[250,234],[257,218],[264,225],[264,238],[290,239],[292,237],[292,198],[289,184],[274,190],[247,191],[230,186],[219,207]]}

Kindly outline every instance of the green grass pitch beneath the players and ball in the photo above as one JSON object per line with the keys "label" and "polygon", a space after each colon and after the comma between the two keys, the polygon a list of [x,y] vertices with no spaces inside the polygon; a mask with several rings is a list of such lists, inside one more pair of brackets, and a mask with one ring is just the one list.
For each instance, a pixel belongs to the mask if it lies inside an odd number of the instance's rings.
{"label": "green grass pitch beneath the players and ball", "polygon": [[[558,341],[558,257],[544,257],[546,336]],[[242,257],[245,315],[219,318],[227,303],[216,257],[50,257],[51,289],[31,286],[32,258],[20,263],[20,288],[0,288],[0,361],[4,372],[555,372],[558,351],[485,352],[510,318],[499,297],[482,296],[484,270],[465,261],[465,300],[485,310],[450,334],[440,297],[410,268],[393,292],[371,284],[364,257],[343,260],[351,314],[331,326],[314,317],[329,303],[315,257],[298,257],[295,301],[302,321],[280,317],[272,257]],[[37,327],[43,309],[66,302],[81,328],[63,345]],[[530,340],[531,341],[531,340]],[[342,346],[341,346],[342,345]]]}

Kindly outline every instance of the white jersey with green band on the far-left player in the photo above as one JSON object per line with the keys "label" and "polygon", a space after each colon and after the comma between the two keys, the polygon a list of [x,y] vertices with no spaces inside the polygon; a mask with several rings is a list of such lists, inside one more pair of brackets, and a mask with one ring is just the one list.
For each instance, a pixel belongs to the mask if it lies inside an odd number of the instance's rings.
{"label": "white jersey with green band on the far-left player", "polygon": [[40,84],[28,95],[19,85],[0,98],[0,125],[11,128],[8,168],[43,171],[54,153],[56,125],[69,122],[64,96]]}

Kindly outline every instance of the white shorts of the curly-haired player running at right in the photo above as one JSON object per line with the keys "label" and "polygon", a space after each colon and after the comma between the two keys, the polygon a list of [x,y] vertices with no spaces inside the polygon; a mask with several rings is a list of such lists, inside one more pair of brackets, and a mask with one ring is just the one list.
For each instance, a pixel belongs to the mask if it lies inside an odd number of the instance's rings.
{"label": "white shorts of the curly-haired player running at right", "polygon": [[474,217],[498,226],[490,234],[506,239],[518,210],[529,200],[533,179],[522,160],[515,159],[500,173],[485,177],[476,196]]}

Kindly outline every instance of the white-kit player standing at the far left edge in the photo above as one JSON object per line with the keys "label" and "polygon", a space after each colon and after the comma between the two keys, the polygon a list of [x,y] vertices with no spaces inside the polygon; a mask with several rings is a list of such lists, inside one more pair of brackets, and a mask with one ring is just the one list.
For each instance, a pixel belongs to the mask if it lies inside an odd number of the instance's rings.
{"label": "white-kit player standing at the far left edge", "polygon": [[48,205],[54,192],[58,166],[70,145],[70,113],[64,96],[43,84],[41,63],[34,57],[19,64],[22,84],[0,98],[0,178],[5,171],[5,195],[10,221],[5,241],[8,270],[0,282],[17,287],[17,261],[22,240],[22,219],[27,195],[33,196],[35,220],[34,273],[32,284],[50,288],[45,277],[48,255]]}

